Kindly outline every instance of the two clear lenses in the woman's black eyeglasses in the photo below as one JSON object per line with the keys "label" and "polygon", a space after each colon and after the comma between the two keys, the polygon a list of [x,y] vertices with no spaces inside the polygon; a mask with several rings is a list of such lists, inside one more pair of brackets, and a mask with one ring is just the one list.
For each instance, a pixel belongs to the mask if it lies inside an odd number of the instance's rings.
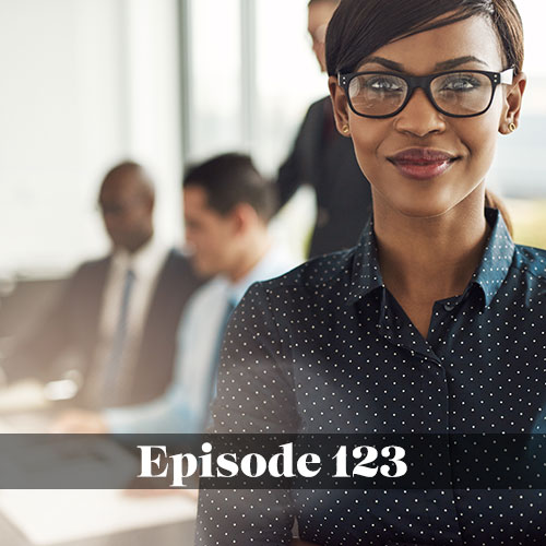
{"label": "two clear lenses in the woman's black eyeglasses", "polygon": [[[348,94],[353,108],[365,116],[389,116],[406,99],[405,80],[391,74],[360,74],[351,80]],[[479,72],[452,72],[435,78],[430,93],[439,108],[454,116],[484,111],[491,99],[491,80]]]}

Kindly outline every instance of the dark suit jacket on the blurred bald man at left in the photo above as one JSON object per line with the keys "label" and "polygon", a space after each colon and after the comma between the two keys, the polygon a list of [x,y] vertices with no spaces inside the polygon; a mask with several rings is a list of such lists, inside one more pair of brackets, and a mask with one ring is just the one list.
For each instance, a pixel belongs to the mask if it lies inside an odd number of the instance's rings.
{"label": "dark suit jacket on the blurred bald man at left", "polygon": [[[4,364],[10,380],[51,380],[55,361],[68,349],[78,353],[88,376],[98,336],[103,290],[110,257],[83,263],[67,280],[62,294],[39,325],[17,344]],[[144,322],[131,392],[124,403],[146,402],[162,394],[173,377],[176,333],[182,309],[200,285],[189,260],[171,250],[159,272]]]}

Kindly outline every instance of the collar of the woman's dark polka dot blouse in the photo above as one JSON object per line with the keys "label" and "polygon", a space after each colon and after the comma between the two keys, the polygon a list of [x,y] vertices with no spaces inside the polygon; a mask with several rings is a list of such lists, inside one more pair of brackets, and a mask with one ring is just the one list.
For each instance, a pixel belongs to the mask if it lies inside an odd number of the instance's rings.
{"label": "collar of the woman's dark polka dot blouse", "polygon": [[[489,236],[482,261],[465,292],[466,294],[471,286],[478,286],[484,294],[483,308],[491,304],[503,283],[515,250],[515,245],[499,211],[496,209],[486,209],[485,216],[491,227],[491,235]],[[368,226],[363,232],[360,240],[353,252],[347,305],[355,304],[377,288],[384,288],[379,270],[372,219],[370,219]]]}

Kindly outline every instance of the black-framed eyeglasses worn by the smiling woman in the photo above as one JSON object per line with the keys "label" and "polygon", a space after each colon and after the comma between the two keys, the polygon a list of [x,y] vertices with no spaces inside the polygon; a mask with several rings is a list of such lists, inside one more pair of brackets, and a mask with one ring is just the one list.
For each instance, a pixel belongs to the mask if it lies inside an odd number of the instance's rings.
{"label": "black-framed eyeglasses worn by the smiling woman", "polygon": [[491,106],[499,84],[511,84],[513,67],[503,72],[455,70],[429,75],[392,72],[337,74],[351,109],[365,118],[390,118],[400,114],[415,90],[422,88],[435,108],[453,118],[472,118]]}

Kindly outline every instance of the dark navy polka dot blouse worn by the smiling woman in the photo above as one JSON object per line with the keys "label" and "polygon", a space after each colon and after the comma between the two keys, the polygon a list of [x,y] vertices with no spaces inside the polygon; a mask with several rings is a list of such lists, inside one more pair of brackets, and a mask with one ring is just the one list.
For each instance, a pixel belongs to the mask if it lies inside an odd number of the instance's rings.
{"label": "dark navy polka dot blouse worn by the smiling woman", "polygon": [[[217,432],[546,431],[546,251],[497,211],[427,340],[383,286],[372,228],[253,285],[224,342]],[[451,464],[454,464],[453,461]],[[202,490],[198,545],[546,545],[546,491]]]}

